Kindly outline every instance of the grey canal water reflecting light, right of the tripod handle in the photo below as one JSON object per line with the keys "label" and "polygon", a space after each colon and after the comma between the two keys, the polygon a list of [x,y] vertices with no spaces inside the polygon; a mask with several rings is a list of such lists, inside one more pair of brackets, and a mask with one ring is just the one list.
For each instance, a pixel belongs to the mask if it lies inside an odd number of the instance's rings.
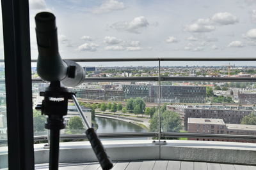
{"label": "grey canal water reflecting light, right of the tripod handle", "polygon": [[[128,122],[115,120],[111,118],[95,117],[95,122],[99,126],[97,129],[97,133],[147,132],[146,129],[143,129],[139,125],[134,125]],[[122,138],[122,139],[148,139],[148,138]]]}

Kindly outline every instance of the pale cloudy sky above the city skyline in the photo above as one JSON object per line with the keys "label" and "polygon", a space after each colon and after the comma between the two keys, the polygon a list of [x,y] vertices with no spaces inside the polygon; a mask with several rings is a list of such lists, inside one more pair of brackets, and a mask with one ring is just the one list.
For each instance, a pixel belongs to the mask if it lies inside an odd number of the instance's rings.
{"label": "pale cloudy sky above the city skyline", "polygon": [[56,15],[65,59],[255,57],[256,0],[29,0],[29,8],[32,59],[39,11]]}

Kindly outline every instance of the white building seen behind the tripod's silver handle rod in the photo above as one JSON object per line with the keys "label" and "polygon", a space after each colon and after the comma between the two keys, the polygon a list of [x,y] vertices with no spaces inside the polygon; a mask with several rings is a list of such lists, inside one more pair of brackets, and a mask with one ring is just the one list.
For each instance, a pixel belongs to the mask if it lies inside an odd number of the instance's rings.
{"label": "white building seen behind the tripod's silver handle rod", "polygon": [[[81,109],[84,113],[84,117],[86,117],[86,119],[88,121],[88,124],[90,125],[90,127],[92,127],[92,110],[90,108],[86,108],[84,106],[81,106]],[[68,121],[72,117],[80,117],[76,106],[68,106],[68,114],[64,116],[66,125],[68,125]],[[84,122],[83,122],[83,124],[84,124]]]}

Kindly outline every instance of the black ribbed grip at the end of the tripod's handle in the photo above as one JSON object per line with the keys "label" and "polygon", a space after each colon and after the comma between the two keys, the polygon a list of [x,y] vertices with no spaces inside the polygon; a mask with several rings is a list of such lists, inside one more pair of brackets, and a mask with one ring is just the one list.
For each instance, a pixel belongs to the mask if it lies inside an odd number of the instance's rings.
{"label": "black ribbed grip at the end of the tripod's handle", "polygon": [[88,140],[90,141],[92,145],[92,149],[99,160],[100,166],[103,170],[109,170],[113,167],[113,164],[111,160],[109,159],[106,150],[102,143],[100,142],[100,139],[98,138],[96,132],[93,128],[89,128],[86,130],[86,136]]}

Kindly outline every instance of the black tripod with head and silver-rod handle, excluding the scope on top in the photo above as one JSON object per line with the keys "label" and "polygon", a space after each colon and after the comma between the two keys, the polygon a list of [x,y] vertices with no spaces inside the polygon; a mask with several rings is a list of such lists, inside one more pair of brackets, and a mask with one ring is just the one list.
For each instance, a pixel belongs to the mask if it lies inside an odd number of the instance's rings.
{"label": "black tripod with head and silver-rod handle, excluding the scope on top", "polygon": [[45,128],[50,130],[50,153],[49,169],[58,170],[59,150],[60,150],[60,130],[65,128],[63,116],[67,115],[68,99],[72,99],[81,115],[84,124],[87,127],[86,137],[90,141],[93,151],[99,160],[102,169],[111,169],[113,164],[106,154],[102,143],[97,137],[93,128],[90,128],[83,111],[77,102],[74,93],[68,92],[67,88],[61,87],[60,81],[52,81],[45,92],[40,92],[44,96],[42,104],[36,106],[36,110],[41,110],[42,114],[47,115]]}

